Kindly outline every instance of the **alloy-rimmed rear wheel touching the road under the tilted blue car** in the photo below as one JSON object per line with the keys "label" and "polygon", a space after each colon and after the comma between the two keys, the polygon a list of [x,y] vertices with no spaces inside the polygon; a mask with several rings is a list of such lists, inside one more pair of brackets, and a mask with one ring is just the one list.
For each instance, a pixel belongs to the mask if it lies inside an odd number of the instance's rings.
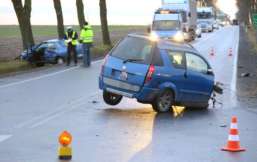
{"label": "alloy-rimmed rear wheel touching the road under the tilted blue car", "polygon": [[173,94],[170,89],[164,89],[154,98],[152,109],[156,112],[168,112],[172,106]]}

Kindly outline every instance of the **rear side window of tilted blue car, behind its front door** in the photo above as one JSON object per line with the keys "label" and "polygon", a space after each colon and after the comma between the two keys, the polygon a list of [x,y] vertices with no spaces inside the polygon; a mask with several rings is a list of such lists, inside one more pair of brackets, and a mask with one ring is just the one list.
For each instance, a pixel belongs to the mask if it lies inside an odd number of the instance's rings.
{"label": "rear side window of tilted blue car, behind its front door", "polygon": [[174,68],[186,70],[184,51],[166,50]]}

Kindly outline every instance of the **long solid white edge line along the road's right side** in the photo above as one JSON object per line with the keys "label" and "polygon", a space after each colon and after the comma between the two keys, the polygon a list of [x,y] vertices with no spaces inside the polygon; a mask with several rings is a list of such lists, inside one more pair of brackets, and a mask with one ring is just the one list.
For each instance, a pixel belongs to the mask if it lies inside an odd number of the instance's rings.
{"label": "long solid white edge line along the road's right side", "polygon": [[[238,56],[238,44],[239,44],[239,28],[238,28],[238,39],[236,44],[236,52],[235,52],[235,59],[233,64],[233,75],[232,75],[232,82],[231,82],[231,90],[236,93],[236,73],[237,73],[237,56]],[[232,56],[233,57],[233,56]],[[235,102],[235,94],[231,91],[231,104],[237,107],[237,102]],[[234,99],[233,99],[234,98]]]}

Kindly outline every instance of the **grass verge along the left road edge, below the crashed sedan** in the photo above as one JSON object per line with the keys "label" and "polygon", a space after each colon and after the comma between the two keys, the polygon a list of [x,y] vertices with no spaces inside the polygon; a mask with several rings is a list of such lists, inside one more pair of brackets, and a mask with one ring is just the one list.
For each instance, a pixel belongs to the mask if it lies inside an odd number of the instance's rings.
{"label": "grass verge along the left road edge, below the crashed sedan", "polygon": [[[94,46],[91,48],[92,57],[101,55],[104,53],[109,53],[111,49],[117,44],[118,42],[112,43],[112,46],[109,45],[99,45]],[[48,66],[52,66],[53,64],[45,64],[45,66],[40,68],[45,68]],[[18,74],[21,72],[31,71],[37,68],[34,63],[27,63],[25,60],[17,59],[8,62],[1,62],[0,63],[0,77],[8,76],[12,74]]]}

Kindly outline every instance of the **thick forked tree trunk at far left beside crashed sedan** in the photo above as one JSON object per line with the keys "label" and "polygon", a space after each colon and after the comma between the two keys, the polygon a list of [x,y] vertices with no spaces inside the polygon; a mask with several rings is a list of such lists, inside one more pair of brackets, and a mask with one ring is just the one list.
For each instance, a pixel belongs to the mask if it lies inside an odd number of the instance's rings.
{"label": "thick forked tree trunk at far left beside crashed sedan", "polygon": [[35,46],[30,23],[31,0],[25,0],[24,7],[22,6],[21,0],[12,0],[12,3],[21,30],[23,50],[26,50],[28,43],[30,43],[31,46]]}

